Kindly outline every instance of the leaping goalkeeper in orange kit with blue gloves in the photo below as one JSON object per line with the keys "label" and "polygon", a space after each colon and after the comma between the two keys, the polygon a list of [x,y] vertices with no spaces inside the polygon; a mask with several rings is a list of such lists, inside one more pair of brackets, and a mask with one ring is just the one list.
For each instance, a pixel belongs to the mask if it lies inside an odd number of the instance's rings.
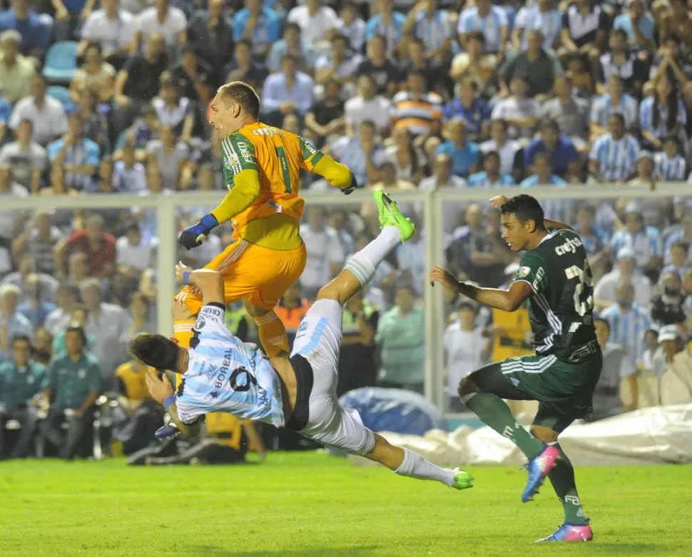
{"label": "leaping goalkeeper in orange kit with blue gloves", "polygon": [[[260,98],[247,83],[233,81],[219,88],[210,105],[209,122],[221,138],[229,191],[218,207],[183,230],[178,242],[193,249],[219,224],[231,222],[235,241],[205,268],[223,275],[226,303],[245,301],[265,353],[273,356],[290,351],[285,328],[273,308],[305,268],[305,244],[299,231],[305,204],[298,194],[300,170],[325,177],[345,194],[357,183],[348,167],[302,137],[261,123],[259,114]],[[175,338],[188,347],[202,297],[186,287],[176,298],[182,306],[173,304]]]}

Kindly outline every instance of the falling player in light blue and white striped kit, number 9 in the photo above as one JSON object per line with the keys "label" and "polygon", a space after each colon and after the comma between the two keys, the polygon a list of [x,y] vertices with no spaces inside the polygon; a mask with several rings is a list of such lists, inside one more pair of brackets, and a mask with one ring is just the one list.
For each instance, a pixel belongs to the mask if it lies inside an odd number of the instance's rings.
{"label": "falling player in light blue and white striped kit, number 9", "polygon": [[229,412],[242,419],[288,427],[327,447],[380,462],[402,476],[465,489],[472,486],[467,472],[438,467],[409,449],[388,443],[363,425],[358,412],[337,401],[343,306],[372,279],[382,259],[415,231],[385,192],[373,195],[380,211],[380,235],[320,289],[298,327],[290,355],[268,358],[254,345],[235,338],[223,323],[220,273],[192,271],[182,264],[176,266],[178,279],[199,288],[204,304],[190,348],[163,335],[144,333],[131,340],[129,349],[153,368],[183,375],[175,394],[170,382],[153,371],[146,378],[149,392],[183,434],[194,434],[207,412]]}

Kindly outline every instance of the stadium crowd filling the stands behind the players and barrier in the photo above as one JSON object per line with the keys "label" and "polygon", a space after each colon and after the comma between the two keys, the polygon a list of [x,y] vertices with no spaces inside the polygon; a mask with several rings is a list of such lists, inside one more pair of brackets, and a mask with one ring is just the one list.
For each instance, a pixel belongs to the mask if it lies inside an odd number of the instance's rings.
{"label": "stadium crowd filling the stands behind the players and barrier", "polygon": [[[565,188],[565,199],[544,207],[579,231],[594,271],[605,354],[595,416],[692,400],[692,203],[637,199],[657,182],[692,183],[687,1],[0,0],[0,7],[0,194],[221,192],[206,108],[220,84],[244,80],[260,92],[265,123],[307,137],[363,187]],[[306,173],[302,189],[326,189],[314,178]],[[618,183],[631,185],[631,199],[569,199],[567,188]],[[181,209],[178,227],[205,212]],[[420,223],[419,207],[407,212]],[[148,439],[158,408],[124,346],[156,325],[154,212],[1,214],[0,458],[9,422],[33,432],[34,395],[47,412],[41,437],[66,456],[75,454],[101,392],[120,397],[116,438]],[[459,276],[500,286],[519,270],[499,215],[484,205],[447,204],[439,226],[447,265]],[[375,231],[370,204],[308,203],[307,267],[278,306],[289,333],[317,288]],[[180,259],[205,264],[231,232],[219,227]],[[400,246],[365,295],[347,304],[340,393],[367,385],[422,392],[424,234]],[[528,352],[529,323],[525,310],[489,312],[459,299],[447,300],[447,315],[449,408],[462,410],[459,378]],[[255,338],[242,307],[230,308],[227,320],[241,338]],[[29,442],[20,434],[14,454]]]}

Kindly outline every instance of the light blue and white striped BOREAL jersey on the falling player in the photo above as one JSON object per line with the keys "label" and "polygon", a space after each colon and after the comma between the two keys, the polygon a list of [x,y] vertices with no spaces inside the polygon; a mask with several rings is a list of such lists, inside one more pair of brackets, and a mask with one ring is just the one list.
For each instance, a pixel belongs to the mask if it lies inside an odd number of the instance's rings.
{"label": "light blue and white striped BOREAL jersey on the falling player", "polygon": [[175,395],[180,420],[191,423],[208,412],[228,412],[283,427],[278,375],[262,350],[230,333],[224,313],[221,306],[207,304],[193,327],[188,370]]}

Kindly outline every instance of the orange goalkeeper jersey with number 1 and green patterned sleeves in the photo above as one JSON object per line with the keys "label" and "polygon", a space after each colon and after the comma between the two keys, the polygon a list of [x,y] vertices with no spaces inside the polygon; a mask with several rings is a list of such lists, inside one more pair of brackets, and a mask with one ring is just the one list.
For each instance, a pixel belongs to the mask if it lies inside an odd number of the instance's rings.
{"label": "orange goalkeeper jersey with number 1 and green patterned sleeves", "polygon": [[256,170],[260,179],[259,196],[231,221],[236,236],[248,222],[275,214],[300,221],[305,205],[298,194],[300,170],[312,171],[322,152],[295,133],[261,122],[245,125],[225,137],[221,150],[228,189],[243,170]]}

